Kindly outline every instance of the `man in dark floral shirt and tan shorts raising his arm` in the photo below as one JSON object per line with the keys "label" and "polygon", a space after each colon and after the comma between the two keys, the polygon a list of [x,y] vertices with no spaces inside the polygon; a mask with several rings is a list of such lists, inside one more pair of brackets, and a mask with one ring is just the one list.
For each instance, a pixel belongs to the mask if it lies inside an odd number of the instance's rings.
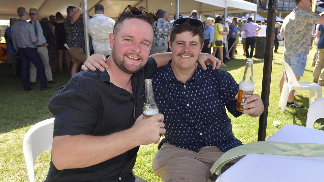
{"label": "man in dark floral shirt and tan shorts raising his arm", "polygon": [[81,0],[80,6],[76,9],[74,6],[69,6],[66,9],[67,17],[64,20],[64,29],[66,33],[66,44],[70,47],[68,50],[72,56],[71,76],[78,72],[81,63],[86,61],[86,54],[83,49],[84,34],[82,33],[82,26],[76,21],[81,15],[83,6],[86,4],[85,0]]}

